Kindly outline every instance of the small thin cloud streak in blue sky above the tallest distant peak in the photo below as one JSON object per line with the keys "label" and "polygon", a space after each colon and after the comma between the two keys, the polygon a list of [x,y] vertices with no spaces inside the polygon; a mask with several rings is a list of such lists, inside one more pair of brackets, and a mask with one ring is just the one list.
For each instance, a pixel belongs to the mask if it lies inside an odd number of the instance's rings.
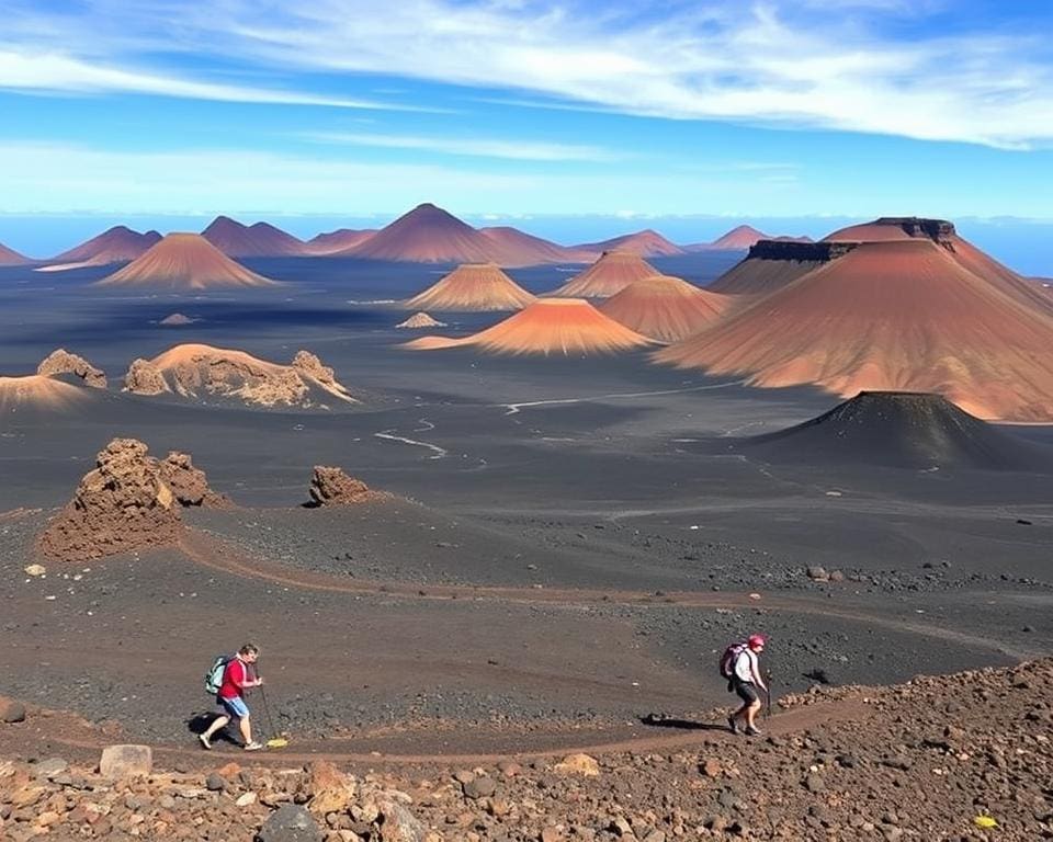
{"label": "small thin cloud streak in blue sky above the tallest distant peak", "polygon": [[597,161],[623,160],[627,156],[599,146],[545,144],[519,140],[496,140],[479,137],[418,137],[350,132],[312,132],[301,135],[322,144],[416,149],[442,155],[473,158],[505,158],[519,161]]}

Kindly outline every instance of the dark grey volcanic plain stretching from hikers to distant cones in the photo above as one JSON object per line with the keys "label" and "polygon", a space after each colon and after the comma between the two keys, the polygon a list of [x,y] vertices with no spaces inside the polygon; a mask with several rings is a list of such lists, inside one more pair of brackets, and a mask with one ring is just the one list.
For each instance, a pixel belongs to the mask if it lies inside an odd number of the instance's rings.
{"label": "dark grey volcanic plain stretching from hikers to distant cones", "polygon": [[[705,285],[739,257],[648,262]],[[453,264],[241,262],[280,284],[181,294],[95,286],[112,266],[0,269],[0,375],[65,348],[109,379],[2,403],[0,693],[65,712],[12,736],[26,755],[120,736],[200,762],[202,674],[246,640],[274,720],[259,728],[296,756],[373,764],[690,746],[731,705],[720,652],[754,632],[777,698],[1053,652],[1049,426],[977,422],[1005,465],[953,446],[883,462],[880,441],[853,450],[836,429],[835,457],[812,458],[826,428],[792,428],[842,402],[818,388],[658,365],[649,344],[409,351],[403,301]],[[580,270],[506,272],[543,295]],[[508,318],[431,315],[457,337]],[[121,390],[134,360],[180,344],[283,364],[307,350],[353,400]],[[37,536],[116,437],[191,454],[230,505],[184,510],[170,546],[43,557]],[[385,493],[310,505],[319,465]]]}

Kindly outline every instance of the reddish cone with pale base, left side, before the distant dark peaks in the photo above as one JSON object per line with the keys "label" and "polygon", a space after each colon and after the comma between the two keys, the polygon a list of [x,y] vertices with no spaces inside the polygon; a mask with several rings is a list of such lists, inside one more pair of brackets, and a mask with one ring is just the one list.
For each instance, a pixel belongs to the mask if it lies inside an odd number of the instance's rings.
{"label": "reddish cone with pale base, left side, before the distant dark peaks", "polygon": [[236,263],[200,234],[170,234],[95,285],[217,289],[279,284]]}

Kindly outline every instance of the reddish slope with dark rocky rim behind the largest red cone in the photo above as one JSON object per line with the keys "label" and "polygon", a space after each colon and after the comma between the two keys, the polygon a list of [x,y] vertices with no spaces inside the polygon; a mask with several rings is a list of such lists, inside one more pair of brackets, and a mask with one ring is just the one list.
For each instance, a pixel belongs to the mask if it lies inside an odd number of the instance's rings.
{"label": "reddish slope with dark rocky rim behind the largest red cone", "polygon": [[823,238],[825,242],[888,242],[929,240],[953,258],[963,269],[983,278],[1006,295],[1053,315],[1053,300],[1029,284],[1027,278],[1003,265],[961,237],[953,223],[917,216],[883,216],[872,223],[841,228]]}

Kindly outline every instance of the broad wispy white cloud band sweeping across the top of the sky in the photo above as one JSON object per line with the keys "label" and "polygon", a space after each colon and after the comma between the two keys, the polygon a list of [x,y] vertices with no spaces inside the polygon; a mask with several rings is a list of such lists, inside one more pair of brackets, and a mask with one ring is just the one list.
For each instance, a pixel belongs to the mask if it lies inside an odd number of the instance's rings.
{"label": "broad wispy white cloud band sweeping across the top of the sky", "polygon": [[[371,75],[672,120],[1053,144],[1053,60],[1041,25],[981,20],[970,30],[960,15],[952,34],[926,27],[954,8],[949,0],[614,0],[602,10],[587,0],[83,0],[76,14],[9,3],[16,13],[0,49],[7,41],[21,64],[15,73],[0,68],[0,84],[21,75],[23,90],[356,107],[355,96],[286,94],[245,79],[284,70],[309,86],[322,73],[327,84],[369,90],[362,77]],[[1033,14],[1048,24],[1042,7]],[[230,84],[150,70],[151,57],[173,54],[244,72]]]}

